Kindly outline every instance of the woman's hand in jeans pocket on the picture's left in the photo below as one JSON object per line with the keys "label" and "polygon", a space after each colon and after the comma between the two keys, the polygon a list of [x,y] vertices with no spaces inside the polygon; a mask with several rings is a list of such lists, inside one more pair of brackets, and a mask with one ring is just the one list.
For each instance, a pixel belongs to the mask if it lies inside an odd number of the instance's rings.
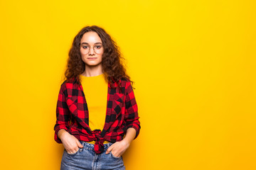
{"label": "woman's hand in jeans pocket on the picture's left", "polygon": [[74,154],[78,152],[79,148],[82,148],[83,145],[79,142],[78,138],[73,135],[70,135],[69,132],[63,132],[60,136],[60,140],[63,143],[68,154]]}

